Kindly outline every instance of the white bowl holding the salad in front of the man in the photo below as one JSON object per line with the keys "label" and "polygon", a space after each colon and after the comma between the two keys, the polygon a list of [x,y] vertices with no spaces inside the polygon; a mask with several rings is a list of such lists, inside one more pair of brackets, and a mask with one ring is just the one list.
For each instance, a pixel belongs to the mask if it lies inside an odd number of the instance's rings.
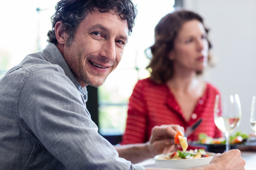
{"label": "white bowl holding the salad in front of the man", "polygon": [[154,159],[156,166],[160,168],[186,169],[209,164],[215,153],[206,152],[206,154],[210,156],[204,158],[180,160],[163,159],[165,158],[166,154],[159,154],[156,155]]}

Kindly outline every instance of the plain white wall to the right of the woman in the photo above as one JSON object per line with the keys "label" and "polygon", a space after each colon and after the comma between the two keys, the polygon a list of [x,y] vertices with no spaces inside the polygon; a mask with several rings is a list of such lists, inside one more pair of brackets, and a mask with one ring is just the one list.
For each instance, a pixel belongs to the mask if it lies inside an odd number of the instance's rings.
{"label": "plain white wall to the right of the woman", "polygon": [[204,18],[210,28],[216,66],[206,79],[221,93],[238,93],[242,120],[236,131],[253,133],[250,105],[256,95],[256,0],[184,0],[184,8]]}

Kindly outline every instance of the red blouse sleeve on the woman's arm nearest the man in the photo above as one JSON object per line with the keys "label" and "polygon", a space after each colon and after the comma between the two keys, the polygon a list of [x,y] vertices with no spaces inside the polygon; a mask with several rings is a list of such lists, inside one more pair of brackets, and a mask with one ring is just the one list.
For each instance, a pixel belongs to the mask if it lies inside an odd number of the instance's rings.
{"label": "red blouse sleeve on the woman's arm nearest the man", "polygon": [[146,112],[144,85],[138,81],[129,99],[126,129],[121,144],[146,142]]}

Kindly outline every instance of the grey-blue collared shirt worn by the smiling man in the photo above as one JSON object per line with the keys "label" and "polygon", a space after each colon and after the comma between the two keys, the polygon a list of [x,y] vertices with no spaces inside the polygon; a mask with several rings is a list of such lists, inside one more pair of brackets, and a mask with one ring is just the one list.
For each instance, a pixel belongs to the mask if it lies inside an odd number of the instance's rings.
{"label": "grey-blue collared shirt worn by the smiling man", "polygon": [[98,134],[55,44],[0,79],[0,170],[143,170]]}

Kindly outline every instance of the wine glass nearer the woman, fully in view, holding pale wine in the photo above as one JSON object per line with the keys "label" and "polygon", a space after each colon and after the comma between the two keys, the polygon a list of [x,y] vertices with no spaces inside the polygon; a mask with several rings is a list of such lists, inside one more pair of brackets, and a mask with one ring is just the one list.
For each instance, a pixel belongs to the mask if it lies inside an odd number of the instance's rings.
{"label": "wine glass nearer the woman, fully in view, holding pale wine", "polygon": [[238,94],[224,95],[220,100],[216,95],[214,105],[214,122],[219,130],[225,133],[226,151],[230,150],[229,135],[239,126],[242,118],[241,104]]}

